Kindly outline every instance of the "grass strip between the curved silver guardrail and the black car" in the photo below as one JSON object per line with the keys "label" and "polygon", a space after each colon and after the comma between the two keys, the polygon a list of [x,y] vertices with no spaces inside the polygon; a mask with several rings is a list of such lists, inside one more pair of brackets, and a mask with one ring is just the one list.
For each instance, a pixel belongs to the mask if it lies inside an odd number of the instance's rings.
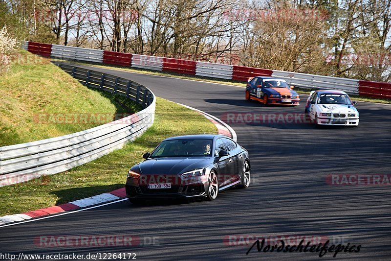
{"label": "grass strip between the curved silver guardrail and the black car", "polygon": [[155,121],[124,148],[69,171],[0,188],[0,216],[32,211],[124,187],[130,166],[163,139],[186,134],[217,133],[202,115],[157,98]]}

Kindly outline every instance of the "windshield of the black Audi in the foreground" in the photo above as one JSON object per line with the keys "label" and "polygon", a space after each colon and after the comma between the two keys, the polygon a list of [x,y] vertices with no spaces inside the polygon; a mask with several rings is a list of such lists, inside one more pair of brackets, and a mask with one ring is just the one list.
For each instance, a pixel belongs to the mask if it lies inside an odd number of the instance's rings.
{"label": "windshield of the black Audi in the foreground", "polygon": [[157,146],[151,158],[211,156],[212,140],[179,139],[163,141]]}

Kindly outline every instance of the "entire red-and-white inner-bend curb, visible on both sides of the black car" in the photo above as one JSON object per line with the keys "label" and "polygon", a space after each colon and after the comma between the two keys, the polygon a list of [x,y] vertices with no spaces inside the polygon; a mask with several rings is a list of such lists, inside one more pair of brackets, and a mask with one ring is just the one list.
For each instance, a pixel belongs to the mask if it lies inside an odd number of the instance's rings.
{"label": "entire red-and-white inner-bend curb, visible on both sides of the black car", "polygon": [[[203,112],[201,110],[195,109],[193,107],[177,103],[179,105],[182,105],[188,109],[191,109],[193,111],[196,111],[203,115],[206,119],[209,119],[218,129],[218,134],[222,134],[225,136],[228,136],[232,138],[234,141],[237,141],[237,135],[235,130],[222,121],[221,119],[218,119],[217,117],[210,115],[206,112]],[[64,203],[58,206],[52,206],[44,209],[29,211],[21,214],[12,214],[12,215],[5,215],[0,216],[0,226],[9,226],[12,225],[14,222],[19,221],[25,221],[28,222],[28,219],[31,218],[38,218],[43,216],[49,216],[51,214],[60,214],[63,212],[77,212],[82,210],[90,209],[92,206],[99,207],[100,205],[107,205],[109,202],[115,203],[115,201],[118,200],[124,200],[126,198],[126,191],[125,188],[119,189],[119,190],[113,190],[111,192],[102,193],[96,196],[87,197],[83,199],[78,199],[69,203]],[[111,204],[110,203],[110,204]],[[50,217],[50,216],[49,216]]]}

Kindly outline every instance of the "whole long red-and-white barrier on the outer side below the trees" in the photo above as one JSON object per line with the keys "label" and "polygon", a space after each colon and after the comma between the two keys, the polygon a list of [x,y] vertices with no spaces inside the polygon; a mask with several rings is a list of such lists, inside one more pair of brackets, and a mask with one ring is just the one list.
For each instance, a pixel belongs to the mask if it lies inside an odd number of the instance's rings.
{"label": "whole long red-and-white barrier on the outer side below the trees", "polygon": [[335,89],[343,90],[351,95],[391,99],[391,84],[383,82],[361,81],[291,71],[267,70],[36,42],[24,42],[22,47],[44,57],[80,60],[156,71],[172,71],[236,81],[247,81],[249,77],[259,75],[275,76],[285,79],[291,85],[304,89]]}

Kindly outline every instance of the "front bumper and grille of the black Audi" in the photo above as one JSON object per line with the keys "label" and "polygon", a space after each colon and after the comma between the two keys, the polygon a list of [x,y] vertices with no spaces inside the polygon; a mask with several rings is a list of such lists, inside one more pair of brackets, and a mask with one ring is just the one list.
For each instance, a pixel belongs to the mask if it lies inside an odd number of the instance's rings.
{"label": "front bumper and grille of the black Audi", "polygon": [[[150,175],[152,176],[152,175]],[[149,189],[150,179],[128,178],[125,190],[128,198],[132,199],[165,199],[165,198],[193,198],[203,197],[207,191],[207,180],[205,176],[187,179],[181,176],[175,176],[175,179],[162,178],[158,183],[171,183],[170,189]],[[154,179],[155,180],[155,179]]]}

